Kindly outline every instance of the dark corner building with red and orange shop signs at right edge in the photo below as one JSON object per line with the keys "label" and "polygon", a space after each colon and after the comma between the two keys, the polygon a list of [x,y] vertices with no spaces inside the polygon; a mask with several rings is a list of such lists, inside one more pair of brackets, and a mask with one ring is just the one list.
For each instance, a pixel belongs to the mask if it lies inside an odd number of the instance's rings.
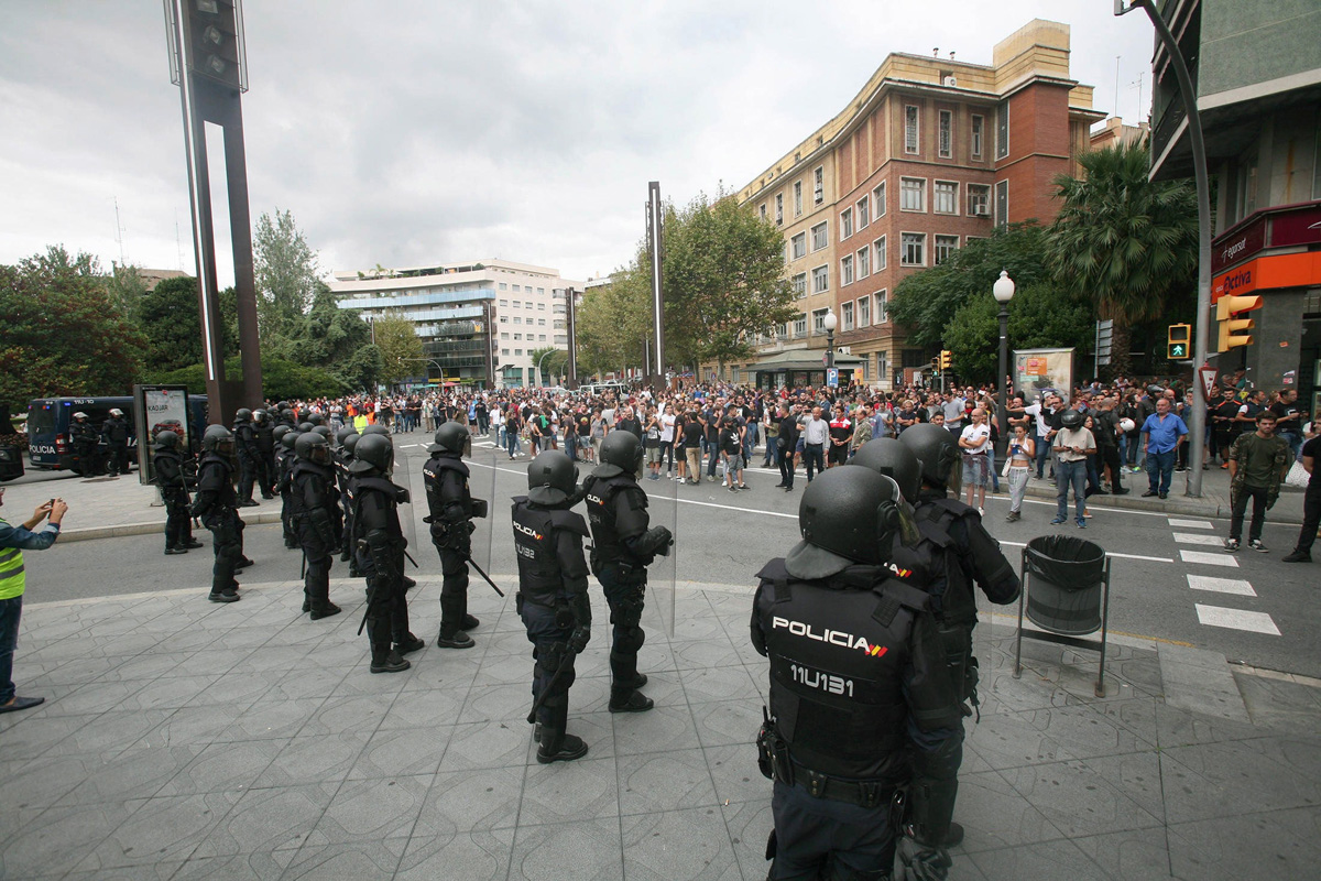
{"label": "dark corner building with red and orange shop signs at right edge", "polygon": [[[1262,296],[1254,345],[1211,359],[1321,407],[1321,5],[1316,0],[1161,4],[1197,90],[1211,206],[1211,300]],[[1152,177],[1193,176],[1188,119],[1157,44]],[[1217,347],[1214,306],[1210,350]]]}

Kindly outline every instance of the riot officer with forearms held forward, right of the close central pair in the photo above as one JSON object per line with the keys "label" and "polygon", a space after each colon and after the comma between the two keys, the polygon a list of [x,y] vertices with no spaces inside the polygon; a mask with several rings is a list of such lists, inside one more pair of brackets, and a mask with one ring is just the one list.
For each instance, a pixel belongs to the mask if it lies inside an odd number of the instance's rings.
{"label": "riot officer with forearms held forward, right of the close central pair", "polygon": [[638,650],[646,639],[642,609],[647,565],[667,555],[672,535],[650,527],[647,494],[638,486],[642,444],[626,431],[610,432],[601,442],[601,465],[583,483],[592,523],[592,575],[605,589],[613,625],[610,642],[612,713],[638,713],[654,701],[638,689],[647,678],[638,672]]}

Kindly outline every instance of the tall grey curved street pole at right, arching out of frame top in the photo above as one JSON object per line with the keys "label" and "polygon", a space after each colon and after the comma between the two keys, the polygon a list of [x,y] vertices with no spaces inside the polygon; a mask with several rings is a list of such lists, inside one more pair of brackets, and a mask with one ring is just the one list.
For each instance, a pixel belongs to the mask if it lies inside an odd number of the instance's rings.
{"label": "tall grey curved street pole at right, arching out of frame top", "polygon": [[[1178,82],[1178,95],[1184,103],[1184,112],[1188,115],[1188,139],[1193,148],[1193,173],[1197,182],[1197,329],[1193,337],[1193,363],[1207,363],[1207,335],[1210,333],[1211,312],[1211,186],[1206,173],[1206,143],[1202,140],[1202,120],[1197,112],[1197,92],[1193,88],[1193,78],[1184,63],[1184,55],[1178,50],[1178,41],[1170,33],[1169,25],[1156,8],[1155,0],[1133,0],[1133,4],[1124,7],[1123,0],[1115,1],[1115,15],[1132,12],[1141,7],[1147,17],[1151,18],[1156,36],[1160,37],[1165,54],[1169,57],[1169,66],[1174,70],[1174,79]],[[1193,371],[1194,384],[1197,371]],[[1193,394],[1193,412],[1188,420],[1188,442],[1192,445],[1188,456],[1188,494],[1199,497],[1202,494],[1202,462],[1206,449],[1206,398]]]}

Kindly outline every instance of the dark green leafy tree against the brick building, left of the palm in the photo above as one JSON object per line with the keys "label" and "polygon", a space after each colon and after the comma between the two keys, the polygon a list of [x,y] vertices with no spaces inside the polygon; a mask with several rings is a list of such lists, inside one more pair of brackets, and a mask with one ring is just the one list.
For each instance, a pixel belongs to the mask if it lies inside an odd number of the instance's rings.
{"label": "dark green leafy tree against the brick building, left of the palm", "polygon": [[[968,242],[941,265],[900,281],[890,297],[890,317],[904,325],[909,343],[947,349],[945,330],[950,321],[964,304],[989,295],[1001,269],[1008,269],[1020,288],[1049,280],[1042,258],[1045,238],[1044,227],[1028,222]],[[999,338],[997,328],[992,337]]]}

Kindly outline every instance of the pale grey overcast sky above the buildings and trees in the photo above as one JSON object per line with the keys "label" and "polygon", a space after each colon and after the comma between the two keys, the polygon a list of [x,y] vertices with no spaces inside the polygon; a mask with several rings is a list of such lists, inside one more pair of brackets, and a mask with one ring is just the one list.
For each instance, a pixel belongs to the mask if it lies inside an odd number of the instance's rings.
{"label": "pale grey overcast sky above the buildings and trees", "polygon": [[[1096,108],[1133,122],[1140,74],[1143,115],[1151,102],[1151,24],[1111,0],[243,7],[252,217],[292,210],[324,271],[608,273],[642,235],[649,180],[676,202],[741,186],[888,53],[989,63],[1033,17],[1071,25]],[[160,0],[3,0],[0,114],[0,263],[63,243],[106,268],[193,271]]]}

